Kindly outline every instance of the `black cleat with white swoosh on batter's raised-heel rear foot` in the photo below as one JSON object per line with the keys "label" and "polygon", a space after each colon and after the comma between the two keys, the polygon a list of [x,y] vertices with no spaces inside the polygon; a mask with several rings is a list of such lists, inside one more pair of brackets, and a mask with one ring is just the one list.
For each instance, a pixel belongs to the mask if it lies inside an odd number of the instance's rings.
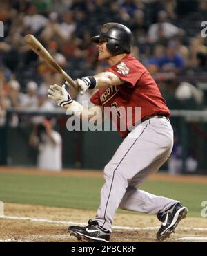
{"label": "black cleat with white swoosh on batter's raised-heel rear foot", "polygon": [[181,205],[181,203],[175,203],[164,212],[158,212],[157,219],[162,222],[161,227],[157,232],[157,239],[163,241],[170,237],[172,232],[175,232],[175,228],[181,219],[184,219],[188,213],[188,209]]}

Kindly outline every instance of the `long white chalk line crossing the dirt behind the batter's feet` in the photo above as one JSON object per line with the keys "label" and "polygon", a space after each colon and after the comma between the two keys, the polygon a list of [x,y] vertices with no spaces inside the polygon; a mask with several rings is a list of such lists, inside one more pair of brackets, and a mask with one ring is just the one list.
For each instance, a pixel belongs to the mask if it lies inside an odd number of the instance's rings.
{"label": "long white chalk line crossing the dirt behind the batter's feet", "polygon": [[[23,221],[34,221],[34,222],[44,222],[44,223],[56,223],[56,224],[63,224],[63,225],[77,225],[77,226],[86,226],[87,223],[75,222],[75,221],[54,221],[52,219],[37,219],[37,218],[30,218],[30,217],[17,217],[17,216],[3,216],[0,219],[17,219]],[[159,226],[155,227],[145,227],[145,228],[136,228],[136,227],[127,227],[127,226],[112,226],[113,229],[119,230],[156,230]],[[179,227],[177,230],[192,230],[192,231],[207,231],[207,228],[189,228],[189,227]]]}

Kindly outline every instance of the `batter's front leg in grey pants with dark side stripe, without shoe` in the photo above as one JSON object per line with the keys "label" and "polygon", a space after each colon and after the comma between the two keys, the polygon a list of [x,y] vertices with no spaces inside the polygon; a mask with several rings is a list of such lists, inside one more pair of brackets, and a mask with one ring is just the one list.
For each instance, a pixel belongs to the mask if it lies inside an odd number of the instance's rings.
{"label": "batter's front leg in grey pants with dark side stripe, without shoe", "polygon": [[106,183],[101,189],[101,203],[95,217],[100,226],[111,230],[115,212],[130,181],[139,172],[147,176],[142,171],[147,173],[148,167],[157,160],[164,163],[172,150],[172,140],[170,122],[157,118],[142,123],[137,138],[125,138],[104,170]]}

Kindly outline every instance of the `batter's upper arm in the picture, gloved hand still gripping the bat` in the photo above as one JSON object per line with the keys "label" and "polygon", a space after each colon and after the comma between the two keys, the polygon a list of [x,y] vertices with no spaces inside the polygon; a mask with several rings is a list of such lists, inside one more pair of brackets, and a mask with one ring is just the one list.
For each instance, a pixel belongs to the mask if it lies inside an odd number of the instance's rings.
{"label": "batter's upper arm in the picture, gloved hand still gripping the bat", "polygon": [[86,92],[88,89],[104,89],[111,85],[123,84],[124,80],[121,80],[114,73],[106,71],[94,76],[79,78],[75,80],[75,83],[79,87],[79,91]]}

